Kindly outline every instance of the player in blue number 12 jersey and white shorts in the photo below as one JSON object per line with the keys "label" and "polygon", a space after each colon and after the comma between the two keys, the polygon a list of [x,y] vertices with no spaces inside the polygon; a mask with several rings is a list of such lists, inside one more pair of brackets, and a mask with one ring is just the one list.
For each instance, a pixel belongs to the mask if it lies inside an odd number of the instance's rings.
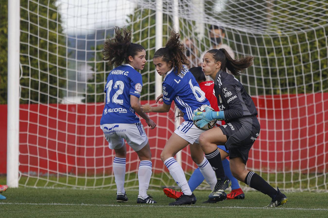
{"label": "player in blue number 12 jersey and white shorts", "polygon": [[[152,129],[156,124],[147,114],[142,112],[139,97],[142,90],[141,74],[146,63],[146,51],[139,44],[131,43],[131,32],[115,27],[115,37],[104,43],[103,60],[114,68],[107,77],[104,92],[106,93],[105,107],[100,120],[109,148],[115,150],[113,172],[117,187],[117,202],[127,202],[124,190],[126,146],[124,140],[133,148],[140,159],[138,169],[139,195],[138,204],[156,203],[147,194],[150,177],[152,176],[151,151],[148,138],[140,123],[137,112],[146,120]],[[125,64],[122,64],[125,62]]]}

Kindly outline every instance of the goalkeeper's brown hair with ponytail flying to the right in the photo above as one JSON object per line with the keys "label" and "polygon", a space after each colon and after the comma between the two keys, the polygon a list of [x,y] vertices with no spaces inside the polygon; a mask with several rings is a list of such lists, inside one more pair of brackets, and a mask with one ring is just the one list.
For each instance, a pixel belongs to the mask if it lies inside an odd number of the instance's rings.
{"label": "goalkeeper's brown hair with ponytail flying to the right", "polygon": [[226,72],[230,71],[230,73],[235,76],[240,75],[240,71],[252,66],[254,59],[252,56],[233,59],[224,48],[211,49],[208,53],[212,55],[215,62],[221,62],[221,70]]}

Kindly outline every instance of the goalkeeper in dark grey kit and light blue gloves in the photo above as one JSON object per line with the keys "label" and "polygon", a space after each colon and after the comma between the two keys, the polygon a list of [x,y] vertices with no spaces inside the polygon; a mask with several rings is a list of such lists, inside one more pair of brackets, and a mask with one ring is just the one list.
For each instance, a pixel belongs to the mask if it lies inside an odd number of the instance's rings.
{"label": "goalkeeper in dark grey kit and light blue gloves", "polygon": [[[215,189],[209,198],[220,197],[230,183],[224,174],[221,156],[217,144],[224,144],[229,150],[230,168],[236,179],[246,183],[271,197],[268,207],[277,207],[287,202],[287,197],[275,190],[258,174],[246,170],[248,153],[260,133],[255,104],[243,85],[234,77],[240,71],[253,64],[254,57],[246,56],[233,59],[225,49],[209,50],[203,57],[202,69],[205,75],[213,78],[214,91],[220,111],[205,109],[195,112],[195,125],[201,127],[208,122],[219,119],[226,124],[202,133],[199,143],[217,177]],[[230,72],[230,73],[227,73]]]}

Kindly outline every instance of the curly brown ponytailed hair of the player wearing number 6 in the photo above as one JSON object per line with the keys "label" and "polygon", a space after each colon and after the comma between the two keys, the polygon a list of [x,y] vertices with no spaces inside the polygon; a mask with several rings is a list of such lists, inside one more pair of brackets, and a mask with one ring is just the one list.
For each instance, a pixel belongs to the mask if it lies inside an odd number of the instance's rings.
{"label": "curly brown ponytailed hair of the player wearing number 6", "polygon": [[189,65],[190,62],[185,55],[186,48],[180,43],[180,34],[174,29],[170,31],[170,38],[166,43],[165,48],[158,49],[154,58],[162,57],[166,63],[172,61],[172,66],[176,70],[175,74],[178,75],[183,69],[183,64]]}

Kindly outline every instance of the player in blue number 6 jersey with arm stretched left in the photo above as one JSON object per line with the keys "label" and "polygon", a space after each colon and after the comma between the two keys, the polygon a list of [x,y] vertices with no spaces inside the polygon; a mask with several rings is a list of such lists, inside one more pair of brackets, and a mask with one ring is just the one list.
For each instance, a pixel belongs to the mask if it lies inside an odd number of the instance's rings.
{"label": "player in blue number 6 jersey with arm stretched left", "polygon": [[214,188],[216,183],[215,173],[204,158],[203,151],[198,144],[199,135],[204,132],[197,128],[192,121],[193,111],[202,105],[209,105],[205,93],[199,88],[192,73],[184,66],[188,59],[184,53],[184,46],[180,44],[179,33],[171,31],[171,37],[165,48],[158,49],[153,58],[156,71],[165,76],[163,81],[163,94],[158,96],[156,102],[163,98],[163,105],[151,107],[143,105],[144,112],[168,112],[174,104],[184,113],[184,122],[174,131],[166,142],[161,153],[161,159],[170,171],[176,184],[183,195],[169,205],[195,204],[195,195],[191,192],[180,164],[174,159],[175,154],[190,144],[190,153],[193,161],[198,165],[206,181]]}

